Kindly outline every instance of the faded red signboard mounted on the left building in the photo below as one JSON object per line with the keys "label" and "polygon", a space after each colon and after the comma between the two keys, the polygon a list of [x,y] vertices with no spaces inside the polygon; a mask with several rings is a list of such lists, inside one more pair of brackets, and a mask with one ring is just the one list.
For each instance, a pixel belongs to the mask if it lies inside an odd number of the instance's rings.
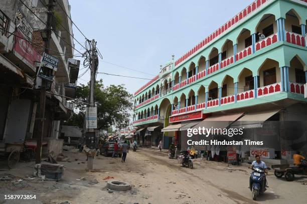
{"label": "faded red signboard mounted on the left building", "polygon": [[24,39],[24,34],[18,30],[16,32],[14,54],[26,65],[28,65],[34,72],[36,72],[35,62],[40,62],[42,56],[36,52],[31,43]]}

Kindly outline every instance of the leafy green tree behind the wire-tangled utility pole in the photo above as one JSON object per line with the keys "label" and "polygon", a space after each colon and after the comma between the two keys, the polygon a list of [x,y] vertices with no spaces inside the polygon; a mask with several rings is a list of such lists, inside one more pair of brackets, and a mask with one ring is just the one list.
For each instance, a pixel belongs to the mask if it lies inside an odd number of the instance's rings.
{"label": "leafy green tree behind the wire-tangled utility pole", "polygon": [[[84,114],[90,87],[81,84],[76,91],[76,108],[78,113],[66,122],[83,128]],[[104,88],[102,80],[95,84],[95,104],[97,106],[97,128],[107,130],[111,126],[126,127],[129,124],[129,112],[132,109],[132,95],[124,85],[110,85]]]}

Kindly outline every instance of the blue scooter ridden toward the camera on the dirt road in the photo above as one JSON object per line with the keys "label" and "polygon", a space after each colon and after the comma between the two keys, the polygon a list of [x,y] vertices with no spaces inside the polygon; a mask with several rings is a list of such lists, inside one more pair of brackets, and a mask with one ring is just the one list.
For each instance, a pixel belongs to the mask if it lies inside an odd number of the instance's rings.
{"label": "blue scooter ridden toward the camera on the dirt road", "polygon": [[[251,164],[251,162],[248,163]],[[252,167],[252,170],[249,177],[249,189],[252,191],[253,200],[256,200],[257,196],[266,190],[266,179],[263,168],[257,166]]]}

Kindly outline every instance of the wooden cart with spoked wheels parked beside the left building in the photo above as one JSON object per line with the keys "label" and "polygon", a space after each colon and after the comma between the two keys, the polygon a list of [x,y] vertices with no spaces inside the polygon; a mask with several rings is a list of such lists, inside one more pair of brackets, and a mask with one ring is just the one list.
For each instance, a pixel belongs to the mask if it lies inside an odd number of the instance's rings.
{"label": "wooden cart with spoked wheels parked beside the left building", "polygon": [[27,147],[25,142],[1,143],[0,156],[7,159],[9,168],[14,168],[20,160],[31,161],[35,156],[35,151]]}

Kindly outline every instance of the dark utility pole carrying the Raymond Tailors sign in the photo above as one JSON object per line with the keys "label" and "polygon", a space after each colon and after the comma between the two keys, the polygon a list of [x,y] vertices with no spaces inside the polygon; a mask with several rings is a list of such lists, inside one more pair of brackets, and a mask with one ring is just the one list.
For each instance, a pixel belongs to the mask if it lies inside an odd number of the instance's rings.
{"label": "dark utility pole carrying the Raymond Tailors sign", "polygon": [[[45,40],[45,53],[49,53],[50,38],[51,38],[51,21],[52,21],[52,11],[53,11],[53,0],[48,2],[48,14],[47,14],[47,24],[46,33],[47,39]],[[40,70],[39,70],[40,71]],[[37,150],[36,150],[36,160],[35,163],[41,163],[42,156],[42,142],[44,139],[44,124],[45,124],[45,108],[46,108],[46,81],[42,79],[41,94],[40,94],[40,129],[37,138]]]}

